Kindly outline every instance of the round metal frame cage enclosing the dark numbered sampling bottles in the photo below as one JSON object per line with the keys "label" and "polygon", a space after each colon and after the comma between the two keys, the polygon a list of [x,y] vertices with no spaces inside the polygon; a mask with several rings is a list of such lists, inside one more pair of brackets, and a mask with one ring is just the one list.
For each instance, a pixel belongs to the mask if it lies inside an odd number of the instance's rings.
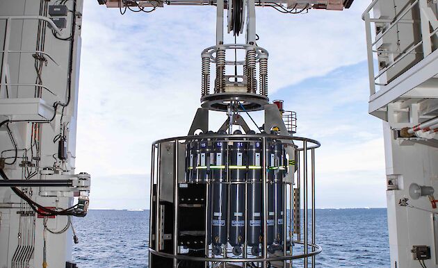
{"label": "round metal frame cage enclosing the dark numbered sampling bottles", "polygon": [[[199,165],[202,160],[197,161],[198,165],[190,166],[188,163],[193,144],[202,142],[223,143],[226,147],[225,165],[216,165],[211,160],[209,167],[210,170],[220,169],[225,174],[219,180],[209,175],[200,179],[190,178],[190,168],[199,169],[200,172],[204,172],[203,174],[208,174],[205,172],[207,168]],[[259,143],[261,147],[259,167],[250,166],[250,162],[240,163],[241,167],[232,165],[236,162],[229,157],[229,152],[238,150],[234,144],[254,142]],[[270,146],[275,142],[282,143],[282,146],[289,146],[288,151],[294,152],[293,156],[284,158],[287,162],[286,165],[282,162],[283,167],[279,167],[278,164],[277,167],[270,165],[272,163],[268,155]],[[243,146],[250,151],[250,145]],[[318,141],[305,137],[268,134],[194,135],[172,137],[154,142],[152,144],[149,267],[292,267],[292,262],[296,259],[302,259],[302,263],[299,264],[304,267],[309,267],[309,265],[315,267],[315,256],[322,251],[321,246],[316,244],[315,237],[315,149],[319,146],[321,144]],[[214,155],[214,152],[208,149],[206,153]],[[207,160],[207,162],[210,161]],[[245,175],[242,180],[230,178],[232,172],[243,171],[246,174],[251,169],[259,169],[261,174],[259,181],[250,180],[248,175]],[[278,169],[278,172],[282,170],[284,174],[291,172],[291,179],[284,175],[284,179],[273,180],[270,174],[275,169]],[[254,187],[255,184],[261,185],[261,215],[259,215],[261,235],[259,244],[253,246],[259,250],[252,251],[248,245],[248,229],[250,228],[248,218],[251,217],[248,212],[250,203],[248,194],[251,192],[249,188]],[[273,196],[268,196],[269,187],[275,184],[279,186],[278,189],[281,189],[280,194],[282,194],[279,198],[275,196],[277,200],[281,200],[282,212],[275,216],[278,217],[278,221],[275,218],[275,223],[276,228],[278,223],[278,227],[282,229],[277,233],[277,237],[279,235],[282,237],[277,247],[273,248],[271,245],[275,243],[269,242],[266,234],[270,228],[268,226],[271,214],[269,211],[271,208],[268,208],[270,207],[269,200],[273,200]],[[244,218],[244,221],[241,218],[244,224],[227,224],[225,227],[227,228],[226,242],[220,246],[220,251],[217,249],[218,246],[216,248],[213,246],[212,238],[214,227],[212,222],[215,221],[212,203],[218,200],[217,196],[214,198],[211,196],[214,193],[212,192],[214,185],[224,185],[228,193],[232,191],[230,189],[232,187],[234,191],[241,187],[245,194],[245,198],[242,199],[245,212],[239,215]],[[302,194],[304,200],[301,200]],[[230,194],[227,195],[228,217],[225,220],[231,223],[230,196]],[[311,199],[310,208],[309,199]],[[303,206],[304,215],[301,215],[301,206]],[[309,219],[309,212],[311,219]],[[230,242],[230,229],[233,226],[241,226],[241,231],[244,232],[239,238],[242,249],[240,252],[235,252],[236,246],[233,248]],[[309,259],[311,259],[310,262]]]}

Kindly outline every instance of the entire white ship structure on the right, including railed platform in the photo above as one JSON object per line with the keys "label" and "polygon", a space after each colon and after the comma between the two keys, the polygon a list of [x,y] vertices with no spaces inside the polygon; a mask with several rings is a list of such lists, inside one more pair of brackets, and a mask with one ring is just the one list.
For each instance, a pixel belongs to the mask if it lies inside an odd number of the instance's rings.
{"label": "entire white ship structure on the right, including railed platform", "polygon": [[[438,190],[435,128],[403,131],[438,115],[438,20],[436,1],[374,0],[364,12],[369,112],[382,119],[387,167],[387,208],[391,268],[421,267],[412,246],[431,248],[425,265],[438,267],[438,210],[427,196],[413,200],[412,183]],[[438,195],[438,194],[435,194]],[[409,199],[409,206],[400,200]],[[425,211],[427,210],[427,211]]]}

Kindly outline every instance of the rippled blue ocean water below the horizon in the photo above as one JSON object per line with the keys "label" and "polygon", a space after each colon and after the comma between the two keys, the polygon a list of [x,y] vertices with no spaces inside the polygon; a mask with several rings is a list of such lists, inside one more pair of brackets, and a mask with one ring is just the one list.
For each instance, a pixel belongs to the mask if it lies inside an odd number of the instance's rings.
{"label": "rippled blue ocean water below the horizon", "polygon": [[[90,210],[74,228],[79,267],[147,267],[148,211]],[[316,210],[316,240],[316,267],[390,267],[386,209]]]}

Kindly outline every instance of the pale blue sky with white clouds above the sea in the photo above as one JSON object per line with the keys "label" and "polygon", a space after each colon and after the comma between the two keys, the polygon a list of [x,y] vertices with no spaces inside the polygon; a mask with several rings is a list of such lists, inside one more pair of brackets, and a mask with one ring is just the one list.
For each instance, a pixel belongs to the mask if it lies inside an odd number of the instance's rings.
{"label": "pale blue sky with white clouds above the sea", "polygon": [[[367,5],[304,15],[257,8],[269,97],[298,113],[298,136],[322,144],[317,208],[386,206],[382,123],[367,112]],[[215,12],[165,6],[120,15],[85,1],[76,171],[92,175],[90,208],[149,206],[151,144],[188,132],[200,106],[200,53],[216,42]]]}

